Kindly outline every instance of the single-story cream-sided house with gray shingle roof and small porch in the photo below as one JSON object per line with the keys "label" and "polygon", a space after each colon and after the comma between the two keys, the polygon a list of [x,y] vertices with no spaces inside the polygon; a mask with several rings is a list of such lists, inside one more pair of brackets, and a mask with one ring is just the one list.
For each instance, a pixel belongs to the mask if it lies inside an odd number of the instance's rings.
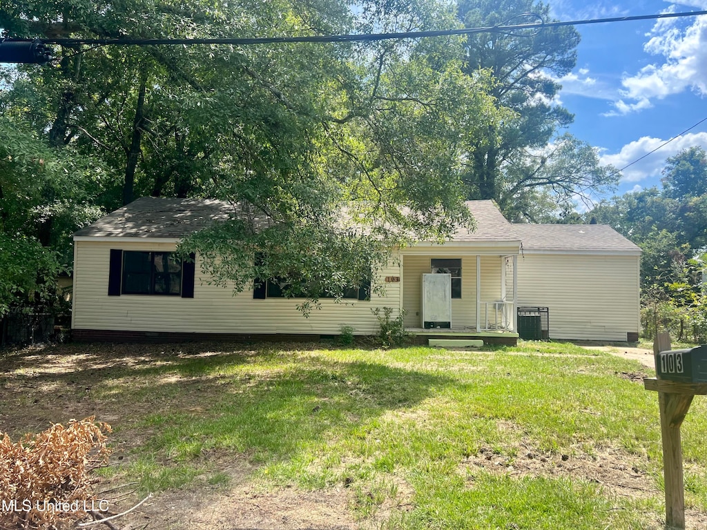
{"label": "single-story cream-sided house with gray shingle roof and small porch", "polygon": [[79,340],[292,338],[375,334],[375,308],[404,311],[416,336],[514,343],[537,338],[637,340],[641,251],[604,225],[518,225],[493,201],[468,201],[477,229],[443,245],[419,242],[374,271],[376,290],[322,299],[308,318],[298,300],[254,284],[234,295],[173,257],[183,237],[230,206],[144,197],[74,234],[71,327]]}

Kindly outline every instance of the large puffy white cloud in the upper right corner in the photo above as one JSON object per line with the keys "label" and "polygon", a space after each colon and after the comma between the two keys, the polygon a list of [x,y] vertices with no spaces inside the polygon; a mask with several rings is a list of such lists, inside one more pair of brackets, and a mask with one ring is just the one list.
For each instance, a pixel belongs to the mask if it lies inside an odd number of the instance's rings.
{"label": "large puffy white cloud in the upper right corner", "polygon": [[[674,6],[667,11],[674,11]],[[662,61],[648,64],[633,75],[625,75],[620,97],[614,102],[615,110],[607,115],[643,110],[651,106],[653,98],[666,98],[684,90],[707,95],[707,16],[689,20],[688,25],[678,19],[655,23],[646,35],[649,39],[643,49],[662,56]]]}

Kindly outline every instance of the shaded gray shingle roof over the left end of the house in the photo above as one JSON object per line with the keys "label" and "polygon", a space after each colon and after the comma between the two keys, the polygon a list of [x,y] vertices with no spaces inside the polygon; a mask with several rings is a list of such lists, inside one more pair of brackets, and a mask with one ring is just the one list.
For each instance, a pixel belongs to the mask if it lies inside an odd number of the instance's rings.
{"label": "shaded gray shingle roof over the left end of the house", "polygon": [[233,206],[213,199],[142,197],[74,235],[180,239],[206,228],[214,220],[228,219],[229,212],[233,212]]}

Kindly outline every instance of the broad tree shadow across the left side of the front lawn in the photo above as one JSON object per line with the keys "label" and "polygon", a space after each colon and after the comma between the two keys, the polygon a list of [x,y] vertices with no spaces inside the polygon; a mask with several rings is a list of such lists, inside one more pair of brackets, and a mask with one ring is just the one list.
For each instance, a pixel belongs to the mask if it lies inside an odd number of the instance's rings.
{"label": "broad tree shadow across the left side of the front lawn", "polygon": [[35,399],[32,407],[71,410],[67,405],[76,408],[78,400],[82,414],[110,416],[119,437],[133,439],[134,451],[160,460],[186,462],[223,449],[273,461],[356,436],[386,411],[415,406],[453,383],[379,364],[375,351],[370,362],[360,355],[347,362],[274,346],[236,348],[67,345],[48,355],[30,352],[0,361],[0,399],[11,399],[13,388],[29,393],[28,400],[58,389],[47,404]]}

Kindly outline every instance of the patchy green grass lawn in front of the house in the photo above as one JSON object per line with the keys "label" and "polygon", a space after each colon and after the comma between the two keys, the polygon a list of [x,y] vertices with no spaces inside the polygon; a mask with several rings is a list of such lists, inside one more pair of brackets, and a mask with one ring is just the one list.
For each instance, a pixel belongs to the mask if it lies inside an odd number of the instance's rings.
{"label": "patchy green grass lawn in front of the house", "polygon": [[[221,348],[112,367],[91,392],[129,411],[116,434],[139,442],[110,473],[142,491],[228,487],[221,462],[238,456],[264,488],[346,488],[364,522],[383,505],[404,506],[385,528],[645,529],[664,511],[658,396],[626,374],[652,372],[566,343]],[[704,401],[694,400],[682,427],[686,502],[701,512]],[[607,451],[643,473],[652,493],[614,495],[551,463],[516,472],[526,453],[573,464]]]}

